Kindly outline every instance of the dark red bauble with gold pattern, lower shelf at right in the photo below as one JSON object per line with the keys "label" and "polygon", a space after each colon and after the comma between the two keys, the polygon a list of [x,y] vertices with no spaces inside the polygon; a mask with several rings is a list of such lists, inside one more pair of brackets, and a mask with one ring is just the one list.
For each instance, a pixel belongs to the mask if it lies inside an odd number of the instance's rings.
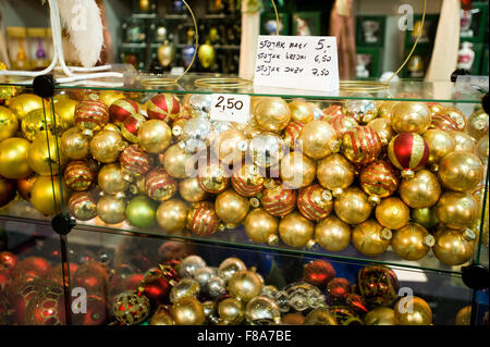
{"label": "dark red bauble with gold pattern, lower shelf at right", "polygon": [[396,274],[387,267],[365,267],[357,274],[360,295],[371,307],[389,306],[400,289]]}

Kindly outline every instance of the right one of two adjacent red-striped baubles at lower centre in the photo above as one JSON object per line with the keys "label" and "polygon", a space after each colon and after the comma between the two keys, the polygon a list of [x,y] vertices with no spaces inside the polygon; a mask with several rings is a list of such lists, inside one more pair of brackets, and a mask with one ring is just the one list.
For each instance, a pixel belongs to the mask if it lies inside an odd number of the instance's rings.
{"label": "right one of two adjacent red-striped baubles at lower centre", "polygon": [[314,184],[299,190],[296,205],[303,216],[318,222],[332,212],[333,198],[330,190]]}

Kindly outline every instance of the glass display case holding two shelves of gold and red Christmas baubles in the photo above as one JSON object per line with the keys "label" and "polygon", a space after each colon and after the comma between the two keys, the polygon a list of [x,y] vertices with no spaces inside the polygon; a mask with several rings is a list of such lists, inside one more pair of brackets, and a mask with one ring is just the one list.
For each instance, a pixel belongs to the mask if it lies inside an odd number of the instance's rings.
{"label": "glass display case holding two shelves of gold and red Christmas baubles", "polygon": [[[150,77],[44,100],[3,79],[1,220],[59,234],[70,294],[35,323],[488,324],[480,89]],[[250,96],[248,122],[215,121],[217,92]]]}

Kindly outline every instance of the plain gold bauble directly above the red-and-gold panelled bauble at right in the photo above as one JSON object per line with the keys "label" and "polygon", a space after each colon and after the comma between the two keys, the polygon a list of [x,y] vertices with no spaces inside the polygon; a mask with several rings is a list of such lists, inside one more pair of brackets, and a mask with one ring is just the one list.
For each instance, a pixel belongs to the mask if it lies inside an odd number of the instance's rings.
{"label": "plain gold bauble directly above the red-and-gold panelled bauble at right", "polygon": [[391,114],[391,126],[396,133],[421,135],[429,128],[430,121],[430,110],[424,102],[399,102]]}

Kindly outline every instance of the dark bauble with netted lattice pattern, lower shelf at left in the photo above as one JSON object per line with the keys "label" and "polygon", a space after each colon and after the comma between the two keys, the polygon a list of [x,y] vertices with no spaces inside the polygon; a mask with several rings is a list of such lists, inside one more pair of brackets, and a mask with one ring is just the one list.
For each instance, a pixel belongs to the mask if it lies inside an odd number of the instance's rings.
{"label": "dark bauble with netted lattice pattern, lower shelf at left", "polygon": [[135,325],[145,321],[150,312],[150,302],[144,295],[127,290],[119,294],[112,305],[112,313],[124,325]]}

